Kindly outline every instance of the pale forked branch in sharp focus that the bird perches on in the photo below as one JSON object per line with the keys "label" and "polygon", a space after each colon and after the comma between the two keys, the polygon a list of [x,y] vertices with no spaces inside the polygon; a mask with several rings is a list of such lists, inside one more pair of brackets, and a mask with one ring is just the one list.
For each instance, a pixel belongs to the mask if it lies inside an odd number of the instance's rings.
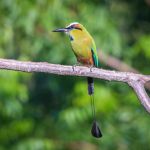
{"label": "pale forked branch in sharp focus that the bird perches on", "polygon": [[84,66],[76,66],[75,70],[73,70],[72,66],[9,59],[0,59],[0,69],[22,72],[44,72],[57,75],[88,76],[108,81],[125,82],[134,89],[142,105],[150,113],[150,98],[144,89],[144,84],[150,81],[150,75],[110,71],[99,68],[92,68],[92,71],[90,71],[90,68]]}

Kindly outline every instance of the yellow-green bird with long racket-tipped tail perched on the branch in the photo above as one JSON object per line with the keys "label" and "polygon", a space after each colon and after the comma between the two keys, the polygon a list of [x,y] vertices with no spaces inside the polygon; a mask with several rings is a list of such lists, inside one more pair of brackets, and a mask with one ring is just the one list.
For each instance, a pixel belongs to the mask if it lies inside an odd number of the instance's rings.
{"label": "yellow-green bird with long racket-tipped tail perched on the branch", "polygon": [[[73,53],[76,56],[77,62],[87,67],[98,67],[98,55],[94,39],[86,28],[78,23],[70,23],[65,28],[58,28],[53,32],[64,32],[69,36]],[[94,137],[102,137],[102,132],[95,117],[95,102],[94,102],[94,80],[92,77],[87,77],[88,94],[91,99],[91,107],[93,114],[93,124],[91,133]]]}

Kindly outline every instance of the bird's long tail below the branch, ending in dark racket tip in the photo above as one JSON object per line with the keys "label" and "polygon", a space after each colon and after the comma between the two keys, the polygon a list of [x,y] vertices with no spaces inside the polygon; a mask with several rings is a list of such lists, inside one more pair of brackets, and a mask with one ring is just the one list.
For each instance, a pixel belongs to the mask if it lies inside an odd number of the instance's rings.
{"label": "bird's long tail below the branch, ending in dark racket tip", "polygon": [[92,115],[93,115],[93,125],[91,129],[91,133],[94,137],[100,138],[102,137],[102,133],[96,122],[96,115],[95,115],[94,80],[92,77],[87,77],[87,81],[88,81],[88,94],[90,95],[90,99],[91,99],[91,108],[92,108]]}

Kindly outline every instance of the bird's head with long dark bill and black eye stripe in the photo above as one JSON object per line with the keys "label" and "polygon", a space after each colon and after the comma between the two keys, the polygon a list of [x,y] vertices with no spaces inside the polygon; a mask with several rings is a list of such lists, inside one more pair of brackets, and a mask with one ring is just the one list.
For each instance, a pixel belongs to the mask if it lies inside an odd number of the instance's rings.
{"label": "bird's head with long dark bill and black eye stripe", "polygon": [[76,32],[76,31],[83,31],[84,27],[78,22],[73,22],[70,23],[68,26],[65,28],[59,28],[56,30],[53,30],[53,32],[65,32],[65,33],[70,33],[70,32]]}

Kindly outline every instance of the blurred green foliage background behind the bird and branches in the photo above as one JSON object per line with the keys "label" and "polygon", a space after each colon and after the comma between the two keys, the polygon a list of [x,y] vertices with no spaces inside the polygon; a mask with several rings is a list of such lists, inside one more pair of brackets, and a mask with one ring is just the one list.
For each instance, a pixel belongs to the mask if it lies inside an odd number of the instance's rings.
{"label": "blurred green foliage background behind the bird and branches", "polygon": [[[150,74],[150,0],[1,0],[0,12],[1,58],[73,65],[68,37],[51,30],[78,21],[98,49]],[[101,139],[85,78],[1,70],[0,150],[150,149],[150,116],[130,87],[95,80],[95,99]]]}

